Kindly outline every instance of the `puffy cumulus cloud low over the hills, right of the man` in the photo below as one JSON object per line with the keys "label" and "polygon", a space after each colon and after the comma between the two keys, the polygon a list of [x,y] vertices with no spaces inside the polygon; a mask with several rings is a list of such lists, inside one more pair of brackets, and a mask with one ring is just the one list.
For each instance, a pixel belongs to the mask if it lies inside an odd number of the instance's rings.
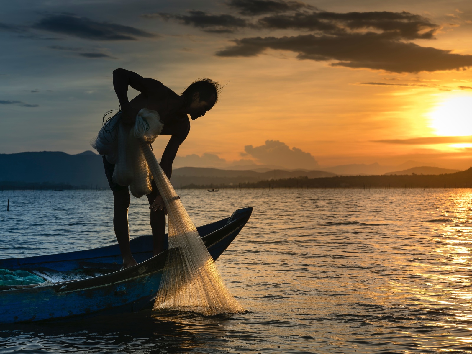
{"label": "puffy cumulus cloud low over the hills, right of the man", "polygon": [[266,140],[264,145],[244,146],[244,151],[263,164],[279,165],[288,169],[315,169],[318,162],[310,152],[303,152],[278,140]]}

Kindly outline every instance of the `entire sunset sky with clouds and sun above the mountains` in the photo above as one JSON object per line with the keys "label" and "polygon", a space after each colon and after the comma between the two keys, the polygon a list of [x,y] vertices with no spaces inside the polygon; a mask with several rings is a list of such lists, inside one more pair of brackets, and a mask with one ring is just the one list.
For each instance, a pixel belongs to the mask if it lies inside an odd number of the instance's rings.
{"label": "entire sunset sky with clouds and sun above the mountains", "polygon": [[92,150],[123,67],[224,85],[180,164],[472,166],[471,1],[8,1],[0,41],[0,153]]}

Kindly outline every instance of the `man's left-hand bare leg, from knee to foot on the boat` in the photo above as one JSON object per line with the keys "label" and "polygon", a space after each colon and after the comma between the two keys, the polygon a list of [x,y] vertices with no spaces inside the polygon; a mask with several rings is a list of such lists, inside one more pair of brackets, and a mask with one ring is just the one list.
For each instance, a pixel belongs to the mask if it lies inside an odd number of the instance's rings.
{"label": "man's left-hand bare leg, from knee to foot on the boat", "polygon": [[138,262],[135,261],[129,247],[129,226],[128,226],[128,208],[129,208],[128,188],[113,191],[113,201],[115,211],[113,213],[113,228],[117,236],[119,249],[123,256],[123,267],[132,267]]}

